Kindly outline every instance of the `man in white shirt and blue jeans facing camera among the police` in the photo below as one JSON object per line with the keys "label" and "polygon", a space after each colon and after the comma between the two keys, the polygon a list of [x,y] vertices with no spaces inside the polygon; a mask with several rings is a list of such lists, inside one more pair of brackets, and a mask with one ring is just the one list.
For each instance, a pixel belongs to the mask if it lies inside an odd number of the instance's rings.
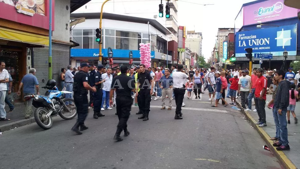
{"label": "man in white shirt and blue jeans facing camera among the police", "polygon": [[102,103],[101,103],[101,111],[104,111],[104,100],[105,100],[105,109],[111,110],[113,108],[109,107],[109,92],[110,92],[110,87],[111,83],[113,82],[113,75],[111,75],[111,68],[107,68],[106,73],[103,73],[102,79],[105,80],[103,83],[103,95],[102,95]]}

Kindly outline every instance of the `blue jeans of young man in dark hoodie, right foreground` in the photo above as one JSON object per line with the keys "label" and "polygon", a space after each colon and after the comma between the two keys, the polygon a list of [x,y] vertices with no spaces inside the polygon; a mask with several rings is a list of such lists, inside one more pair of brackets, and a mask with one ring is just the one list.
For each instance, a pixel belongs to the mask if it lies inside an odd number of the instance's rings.
{"label": "blue jeans of young man in dark hoodie, right foreground", "polygon": [[278,120],[278,124],[279,124],[279,130],[278,130],[278,140],[279,143],[282,145],[288,145],[289,141],[288,141],[288,129],[286,128],[287,122],[286,122],[286,112],[287,109],[283,108],[281,111],[281,115],[278,113],[278,109],[279,108],[274,108],[276,111],[276,113],[273,113],[274,115],[274,119]]}

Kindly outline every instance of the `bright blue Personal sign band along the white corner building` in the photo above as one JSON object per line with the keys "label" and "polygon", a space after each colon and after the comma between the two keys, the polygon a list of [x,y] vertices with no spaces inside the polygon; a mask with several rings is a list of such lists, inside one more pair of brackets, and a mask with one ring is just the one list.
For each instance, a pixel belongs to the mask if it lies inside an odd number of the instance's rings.
{"label": "bright blue Personal sign band along the white corner building", "polygon": [[[133,58],[139,58],[139,50],[113,49],[114,58],[128,58],[129,51],[132,51]],[[102,49],[103,57],[108,57],[107,49]],[[154,58],[155,52],[151,51],[151,58]],[[71,49],[71,57],[99,57],[99,49]]]}

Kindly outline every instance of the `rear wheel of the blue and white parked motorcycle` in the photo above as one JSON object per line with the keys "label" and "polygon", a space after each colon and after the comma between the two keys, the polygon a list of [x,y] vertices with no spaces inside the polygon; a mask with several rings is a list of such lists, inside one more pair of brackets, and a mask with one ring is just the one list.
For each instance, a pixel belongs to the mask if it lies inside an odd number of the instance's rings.
{"label": "rear wheel of the blue and white parked motorcycle", "polygon": [[48,111],[44,107],[38,107],[34,111],[34,119],[36,121],[36,124],[45,130],[51,128],[53,124],[52,117],[46,117],[47,113]]}

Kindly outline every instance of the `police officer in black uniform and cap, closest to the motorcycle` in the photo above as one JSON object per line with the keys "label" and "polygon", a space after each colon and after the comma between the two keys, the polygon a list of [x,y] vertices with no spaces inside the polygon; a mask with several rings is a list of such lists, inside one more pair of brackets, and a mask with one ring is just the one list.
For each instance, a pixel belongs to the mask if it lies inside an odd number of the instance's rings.
{"label": "police officer in black uniform and cap, closest to the motorcycle", "polygon": [[[78,119],[75,125],[72,127],[71,130],[76,132],[77,134],[82,134],[83,130],[88,129],[84,125],[84,120],[88,115],[88,91],[96,92],[95,87],[91,87],[88,85],[88,69],[89,66],[87,63],[80,64],[81,70],[75,74],[74,76],[74,83],[73,83],[73,91],[74,91],[74,102],[76,105],[76,111],[78,113]],[[80,131],[79,131],[80,126]]]}

